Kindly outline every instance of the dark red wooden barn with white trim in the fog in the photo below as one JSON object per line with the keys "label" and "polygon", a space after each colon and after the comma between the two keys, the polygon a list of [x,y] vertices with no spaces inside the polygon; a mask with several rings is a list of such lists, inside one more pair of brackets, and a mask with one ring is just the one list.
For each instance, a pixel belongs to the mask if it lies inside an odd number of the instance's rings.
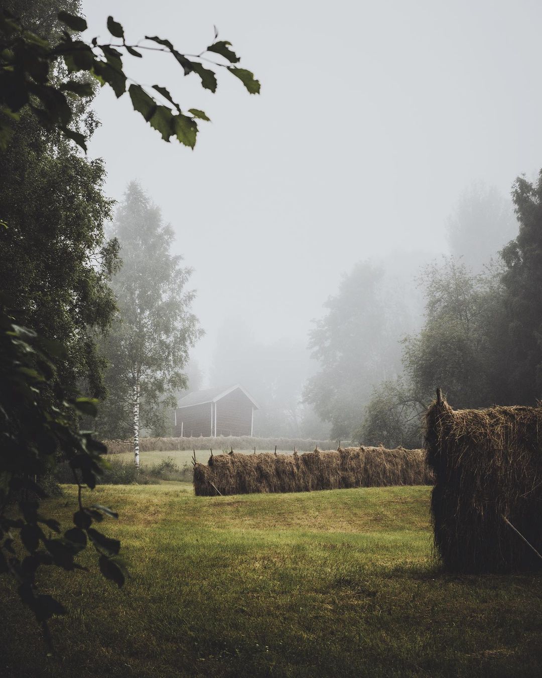
{"label": "dark red wooden barn with white trim in the fog", "polygon": [[188,393],[175,410],[175,436],[253,435],[256,401],[235,384]]}

